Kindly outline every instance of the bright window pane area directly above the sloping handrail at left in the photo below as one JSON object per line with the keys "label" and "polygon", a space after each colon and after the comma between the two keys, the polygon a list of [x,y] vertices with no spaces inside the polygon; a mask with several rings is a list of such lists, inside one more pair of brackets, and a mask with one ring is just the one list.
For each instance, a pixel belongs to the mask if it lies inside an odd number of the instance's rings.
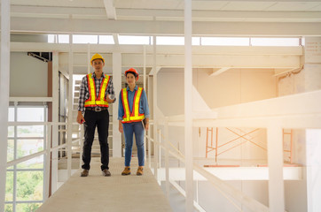
{"label": "bright window pane area directly above the sloping handrail at left", "polygon": [[17,140],[17,158],[43,151],[43,140]]}

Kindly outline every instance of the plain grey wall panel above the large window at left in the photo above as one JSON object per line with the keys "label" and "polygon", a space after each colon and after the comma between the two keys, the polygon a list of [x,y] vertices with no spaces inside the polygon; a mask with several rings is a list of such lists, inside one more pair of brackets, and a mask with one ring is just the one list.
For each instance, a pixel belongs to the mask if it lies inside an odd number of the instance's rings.
{"label": "plain grey wall panel above the large window at left", "polygon": [[10,63],[10,96],[47,96],[48,64],[27,52],[12,52]]}

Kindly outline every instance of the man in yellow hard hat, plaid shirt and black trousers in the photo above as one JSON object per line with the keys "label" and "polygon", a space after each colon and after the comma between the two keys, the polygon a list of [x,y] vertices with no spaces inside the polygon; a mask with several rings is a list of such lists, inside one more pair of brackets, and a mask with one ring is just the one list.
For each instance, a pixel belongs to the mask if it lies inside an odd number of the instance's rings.
{"label": "man in yellow hard hat, plaid shirt and black trousers", "polygon": [[[91,57],[90,64],[94,72],[82,78],[80,96],[78,101],[77,122],[84,123],[84,142],[82,151],[82,174],[87,177],[90,170],[91,147],[94,140],[96,126],[98,128],[98,140],[101,154],[101,170],[103,176],[109,177],[109,146],[108,127],[110,103],[115,102],[114,85],[110,76],[103,72],[105,59],[95,54]],[[84,116],[83,116],[84,113]]]}

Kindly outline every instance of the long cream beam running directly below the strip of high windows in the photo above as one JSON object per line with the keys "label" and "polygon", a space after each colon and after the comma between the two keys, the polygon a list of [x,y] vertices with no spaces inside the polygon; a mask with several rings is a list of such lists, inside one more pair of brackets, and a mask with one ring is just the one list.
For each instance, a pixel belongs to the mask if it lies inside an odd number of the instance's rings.
{"label": "long cream beam running directly below the strip of high windows", "polygon": [[[74,52],[87,53],[88,45],[92,52],[113,53],[121,52],[141,55],[144,52],[142,45],[112,45],[112,44],[74,44]],[[67,43],[43,42],[11,42],[11,51],[59,51],[68,52]],[[146,54],[153,54],[153,45],[145,46]],[[193,46],[193,55],[220,55],[220,56],[302,56],[303,47],[255,47],[255,46]],[[157,55],[184,55],[184,46],[157,46]]]}

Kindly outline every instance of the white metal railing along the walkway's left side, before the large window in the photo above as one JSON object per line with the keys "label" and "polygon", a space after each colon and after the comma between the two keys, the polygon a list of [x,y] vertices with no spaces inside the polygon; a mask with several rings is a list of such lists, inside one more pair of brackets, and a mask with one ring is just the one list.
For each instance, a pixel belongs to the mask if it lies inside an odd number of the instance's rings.
{"label": "white metal railing along the walkway's left side, before the large window", "polygon": [[[43,125],[43,126],[46,126],[46,135],[45,135],[45,139],[44,139],[44,147],[43,147],[43,151],[40,151],[40,152],[37,152],[37,153],[34,153],[34,154],[31,154],[31,155],[26,155],[26,156],[23,156],[19,159],[15,159],[15,160],[12,160],[12,161],[9,161],[7,162],[6,166],[7,167],[11,167],[13,165],[16,165],[18,163],[23,163],[23,162],[26,162],[32,158],[35,158],[37,156],[40,156],[40,155],[44,155],[44,173],[43,173],[43,186],[44,186],[44,193],[43,193],[43,201],[46,201],[49,197],[49,188],[50,188],[50,173],[54,173],[55,171],[57,172],[58,170],[53,170],[50,172],[50,164],[51,164],[51,161],[54,161],[54,160],[58,160],[58,150],[59,149],[64,149],[65,148],[65,151],[67,152],[67,149],[71,149],[71,151],[73,151],[72,147],[74,147],[74,144],[77,144],[79,145],[80,147],[80,155],[82,155],[82,138],[83,138],[83,126],[81,126],[81,131],[79,132],[79,136],[77,139],[71,139],[71,140],[67,140],[66,143],[64,144],[60,144],[58,146],[55,146],[55,147],[52,147],[51,148],[51,142],[52,142],[52,139],[51,139],[51,132],[53,131],[52,127],[53,126],[59,126],[59,125],[68,125],[68,123],[62,123],[62,122],[59,122],[59,123],[52,123],[52,122],[8,122],[8,126],[16,126],[16,125]],[[79,125],[78,123],[73,123],[73,125]],[[67,129],[68,130],[71,130],[72,129]],[[53,133],[59,133],[58,132],[53,132]],[[52,153],[52,157],[51,157],[51,153]],[[72,157],[67,157],[67,163],[71,163],[71,160],[72,160]],[[82,165],[82,160],[80,160],[80,166]],[[58,167],[57,167],[58,168]],[[67,173],[71,173],[71,166],[67,166]],[[70,178],[70,175],[67,176],[67,178]],[[55,179],[53,179],[55,180]],[[56,179],[57,180],[57,179]],[[57,183],[57,182],[56,182]],[[52,191],[56,191],[57,188],[52,188],[51,190]]]}

